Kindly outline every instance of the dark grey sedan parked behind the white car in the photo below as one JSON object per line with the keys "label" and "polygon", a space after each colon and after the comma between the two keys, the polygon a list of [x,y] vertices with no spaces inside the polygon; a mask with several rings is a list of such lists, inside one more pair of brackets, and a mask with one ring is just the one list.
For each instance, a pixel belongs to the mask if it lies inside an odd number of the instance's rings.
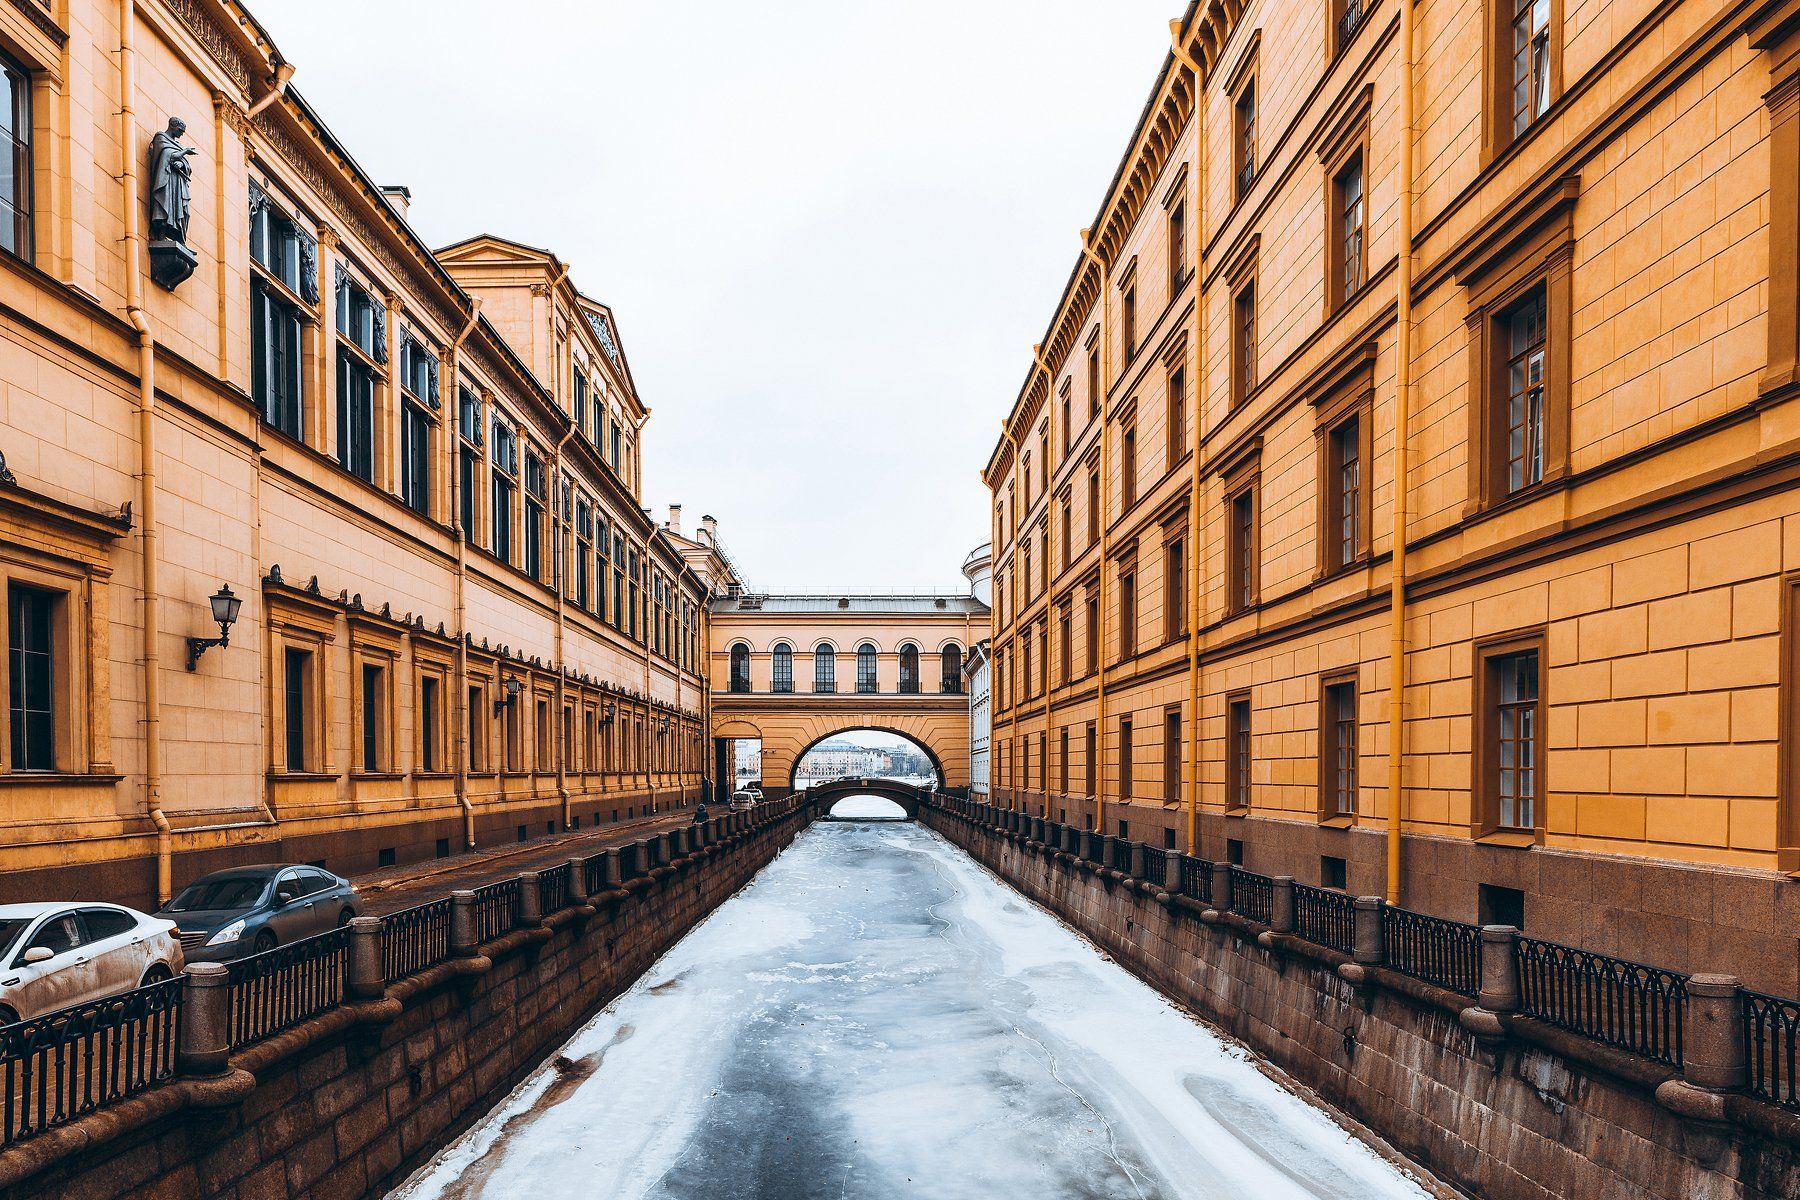
{"label": "dark grey sedan parked behind the white car", "polygon": [[347,925],[360,912],[349,880],[265,864],[203,874],[157,916],[180,928],[189,963],[223,963]]}

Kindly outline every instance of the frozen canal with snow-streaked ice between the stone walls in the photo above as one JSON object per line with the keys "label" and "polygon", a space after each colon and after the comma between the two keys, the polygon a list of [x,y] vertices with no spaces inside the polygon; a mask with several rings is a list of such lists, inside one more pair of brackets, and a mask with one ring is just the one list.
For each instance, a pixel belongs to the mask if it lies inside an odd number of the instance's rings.
{"label": "frozen canal with snow-streaked ice between the stone walls", "polygon": [[913,824],[817,824],[405,1200],[1427,1193]]}

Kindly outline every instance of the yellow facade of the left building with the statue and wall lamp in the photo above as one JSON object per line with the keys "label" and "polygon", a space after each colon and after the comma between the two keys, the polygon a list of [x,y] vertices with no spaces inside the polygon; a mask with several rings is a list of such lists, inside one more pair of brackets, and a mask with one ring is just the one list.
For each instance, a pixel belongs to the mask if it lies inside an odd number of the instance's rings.
{"label": "yellow facade of the left building with the statue and wall lamp", "polygon": [[0,898],[693,802],[729,570],[641,507],[610,308],[547,250],[425,246],[238,4],[0,5]]}

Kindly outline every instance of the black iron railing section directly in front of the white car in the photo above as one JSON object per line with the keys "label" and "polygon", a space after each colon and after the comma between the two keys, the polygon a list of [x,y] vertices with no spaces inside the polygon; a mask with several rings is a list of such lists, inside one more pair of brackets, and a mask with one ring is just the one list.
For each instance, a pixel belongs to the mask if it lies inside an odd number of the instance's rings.
{"label": "black iron railing section directly in front of the white car", "polygon": [[0,1027],[0,1146],[173,1078],[185,995],[166,979]]}

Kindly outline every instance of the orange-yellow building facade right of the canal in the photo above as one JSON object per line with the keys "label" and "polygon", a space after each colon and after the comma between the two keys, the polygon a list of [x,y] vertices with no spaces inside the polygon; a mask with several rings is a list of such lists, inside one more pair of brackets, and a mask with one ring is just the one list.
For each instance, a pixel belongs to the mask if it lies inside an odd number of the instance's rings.
{"label": "orange-yellow building facade right of the canal", "polygon": [[985,471],[995,795],[1800,986],[1796,25],[1190,5]]}

